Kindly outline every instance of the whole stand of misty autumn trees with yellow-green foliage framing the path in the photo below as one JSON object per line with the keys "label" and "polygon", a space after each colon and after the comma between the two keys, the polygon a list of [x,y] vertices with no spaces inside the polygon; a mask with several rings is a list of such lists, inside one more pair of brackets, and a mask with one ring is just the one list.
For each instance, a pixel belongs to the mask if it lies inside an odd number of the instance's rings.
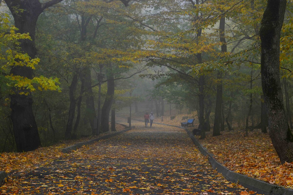
{"label": "whole stand of misty autumn trees with yellow-green foliage framing the path", "polygon": [[[225,123],[245,127],[246,136],[258,125],[265,133],[268,122],[281,161],[292,160],[293,8],[286,1],[61,1],[5,0],[15,27],[2,17],[3,143],[14,136],[17,150],[28,151],[50,144],[50,135],[106,132],[110,111],[115,131],[115,111],[143,94],[157,116],[166,102],[197,110],[200,126],[207,123],[201,138],[211,126],[220,135]],[[140,73],[158,81],[140,86]]]}

